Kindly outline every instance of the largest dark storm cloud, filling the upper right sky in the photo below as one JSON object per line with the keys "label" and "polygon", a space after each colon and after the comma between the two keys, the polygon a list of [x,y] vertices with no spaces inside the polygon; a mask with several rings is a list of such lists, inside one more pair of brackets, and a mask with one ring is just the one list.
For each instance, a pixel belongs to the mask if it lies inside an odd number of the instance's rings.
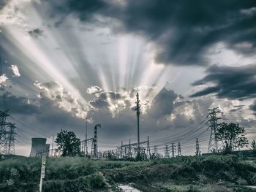
{"label": "largest dark storm cloud, filling the upper right sky", "polygon": [[83,21],[95,13],[115,18],[121,26],[109,23],[114,31],[154,42],[155,59],[163,64],[207,65],[208,49],[217,42],[244,55],[256,51],[255,0],[69,0],[61,7],[60,14],[73,13]]}

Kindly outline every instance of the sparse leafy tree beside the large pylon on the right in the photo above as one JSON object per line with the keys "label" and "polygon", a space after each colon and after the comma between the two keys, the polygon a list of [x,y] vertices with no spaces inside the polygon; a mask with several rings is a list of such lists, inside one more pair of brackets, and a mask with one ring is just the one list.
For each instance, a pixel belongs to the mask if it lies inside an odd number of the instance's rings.
{"label": "sparse leafy tree beside the large pylon on the right", "polygon": [[221,123],[217,128],[216,138],[222,141],[224,153],[230,153],[238,147],[243,148],[248,145],[244,127],[235,123]]}

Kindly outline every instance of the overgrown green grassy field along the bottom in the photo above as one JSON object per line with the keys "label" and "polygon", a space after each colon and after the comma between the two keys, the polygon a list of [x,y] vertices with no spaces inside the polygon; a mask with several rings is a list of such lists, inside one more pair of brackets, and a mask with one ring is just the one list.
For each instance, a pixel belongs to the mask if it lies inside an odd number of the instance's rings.
{"label": "overgrown green grassy field along the bottom", "polygon": [[[118,191],[131,183],[141,191],[254,191],[256,159],[235,155],[181,157],[154,161],[93,161],[48,158],[43,191]],[[37,191],[40,158],[0,161],[0,191]]]}

